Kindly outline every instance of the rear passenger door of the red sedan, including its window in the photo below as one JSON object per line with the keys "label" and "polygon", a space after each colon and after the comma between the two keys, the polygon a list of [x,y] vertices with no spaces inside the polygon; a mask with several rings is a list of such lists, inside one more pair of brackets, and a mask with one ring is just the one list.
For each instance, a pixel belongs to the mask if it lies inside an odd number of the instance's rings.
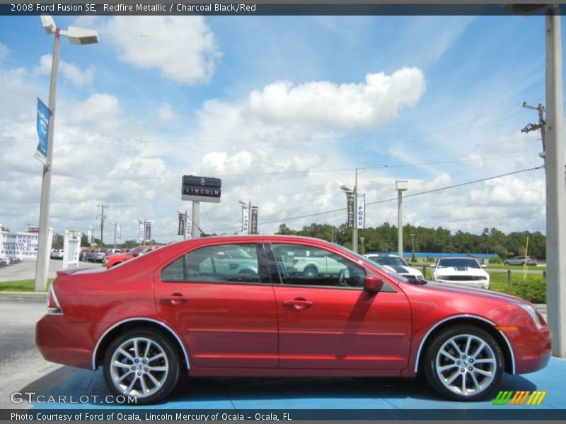
{"label": "rear passenger door of the red sedan, including its window", "polygon": [[[214,258],[234,248],[246,249],[258,271],[216,266]],[[191,365],[277,367],[277,310],[263,245],[192,249],[156,271],[154,293],[159,317],[185,338]]]}

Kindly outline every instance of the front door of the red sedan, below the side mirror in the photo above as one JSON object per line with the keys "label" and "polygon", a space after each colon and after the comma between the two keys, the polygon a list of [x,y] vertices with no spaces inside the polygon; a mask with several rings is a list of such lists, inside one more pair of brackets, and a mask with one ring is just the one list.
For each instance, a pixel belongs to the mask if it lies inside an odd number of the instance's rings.
{"label": "front door of the red sedan, below the side mirror", "polygon": [[342,264],[337,273],[287,273],[280,258],[296,245],[267,248],[279,314],[279,367],[398,370],[408,365],[411,313],[405,293],[385,283],[379,293],[363,290],[362,262],[313,248]]}

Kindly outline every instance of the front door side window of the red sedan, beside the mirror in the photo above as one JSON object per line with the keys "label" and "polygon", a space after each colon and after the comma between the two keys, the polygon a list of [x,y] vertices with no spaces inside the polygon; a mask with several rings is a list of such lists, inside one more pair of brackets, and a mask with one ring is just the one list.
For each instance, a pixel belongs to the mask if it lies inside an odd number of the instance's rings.
{"label": "front door side window of the red sedan, beside the mirror", "polygon": [[363,288],[365,269],[333,252],[304,245],[273,244],[283,284]]}

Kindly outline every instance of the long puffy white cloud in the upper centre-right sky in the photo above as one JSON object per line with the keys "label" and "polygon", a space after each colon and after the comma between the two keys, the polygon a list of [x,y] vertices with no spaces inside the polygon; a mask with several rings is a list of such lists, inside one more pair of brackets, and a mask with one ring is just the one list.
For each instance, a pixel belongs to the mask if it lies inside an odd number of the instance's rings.
{"label": "long puffy white cloud in the upper centre-right sky", "polygon": [[250,94],[247,112],[266,123],[375,129],[398,117],[403,107],[415,106],[424,88],[424,75],[417,68],[399,69],[391,76],[369,73],[365,83],[272,83]]}

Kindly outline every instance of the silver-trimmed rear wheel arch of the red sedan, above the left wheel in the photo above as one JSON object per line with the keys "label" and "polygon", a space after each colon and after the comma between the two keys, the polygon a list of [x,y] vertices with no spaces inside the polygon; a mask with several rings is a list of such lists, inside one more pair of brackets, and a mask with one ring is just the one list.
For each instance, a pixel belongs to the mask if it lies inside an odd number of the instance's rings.
{"label": "silver-trimmed rear wheel arch of the red sedan, above the left wheel", "polygon": [[92,369],[96,370],[98,365],[102,363],[104,358],[104,353],[106,348],[110,346],[112,340],[114,340],[120,334],[124,334],[126,331],[134,330],[134,329],[154,329],[159,331],[161,334],[164,334],[166,337],[170,338],[173,342],[174,348],[178,351],[179,357],[181,358],[182,362],[185,364],[187,370],[190,369],[190,362],[189,357],[187,355],[187,350],[183,341],[181,341],[180,337],[169,327],[167,324],[157,321],[156,319],[151,318],[129,318],[124,319],[120,322],[117,322],[109,329],[107,329],[100,338],[98,338],[98,342],[93,351],[93,359],[92,359]]}

